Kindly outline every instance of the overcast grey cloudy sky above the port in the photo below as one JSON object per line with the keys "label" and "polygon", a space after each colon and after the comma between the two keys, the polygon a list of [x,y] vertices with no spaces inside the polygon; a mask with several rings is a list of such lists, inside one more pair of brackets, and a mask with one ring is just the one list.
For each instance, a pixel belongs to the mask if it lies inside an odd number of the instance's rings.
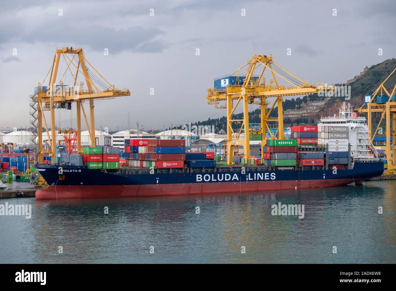
{"label": "overcast grey cloudy sky above the port", "polygon": [[[131,128],[139,122],[145,129],[224,116],[206,103],[207,88],[259,52],[310,83],[345,82],[396,57],[395,3],[3,0],[0,128],[29,126],[29,95],[63,46],[83,47],[111,84],[131,90],[130,97],[97,103],[98,129],[128,128],[128,112]],[[75,127],[72,111],[57,110],[57,126]]]}

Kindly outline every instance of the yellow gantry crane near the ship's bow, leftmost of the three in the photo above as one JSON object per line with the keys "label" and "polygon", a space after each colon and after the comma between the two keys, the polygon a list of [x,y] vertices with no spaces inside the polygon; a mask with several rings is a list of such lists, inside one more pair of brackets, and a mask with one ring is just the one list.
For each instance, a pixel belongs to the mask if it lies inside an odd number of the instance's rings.
{"label": "yellow gantry crane near the ship's bow, leftmost of the three", "polygon": [[[61,60],[64,62],[61,68],[65,72],[58,72]],[[88,67],[88,65],[89,67]],[[73,74],[73,71],[75,73]],[[64,78],[70,72],[72,84],[63,85]],[[79,74],[80,73],[80,74]],[[49,76],[48,86],[42,86]],[[117,89],[110,84],[85,58],[82,48],[64,47],[57,48],[53,56],[52,66],[49,69],[46,78],[42,83],[38,83],[36,93],[32,99],[37,103],[37,122],[38,122],[38,163],[42,164],[43,137],[42,125],[47,131],[47,137],[50,146],[50,154],[53,162],[56,161],[56,131],[55,131],[55,109],[69,108],[71,104],[76,103],[76,120],[77,120],[77,152],[82,153],[81,148],[81,110],[84,114],[87,129],[91,139],[91,145],[95,146],[95,116],[94,101],[104,99],[114,99],[119,96],[129,96],[129,89]],[[77,86],[78,78],[85,81],[88,89],[84,89],[84,82]],[[83,103],[89,103],[89,123]],[[44,110],[50,111],[51,136],[49,135],[48,125],[44,115]]]}

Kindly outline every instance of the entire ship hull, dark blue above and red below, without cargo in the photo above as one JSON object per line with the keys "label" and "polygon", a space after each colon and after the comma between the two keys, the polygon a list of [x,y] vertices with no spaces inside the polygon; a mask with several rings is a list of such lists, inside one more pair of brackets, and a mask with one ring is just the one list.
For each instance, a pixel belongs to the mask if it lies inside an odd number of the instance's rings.
{"label": "entire ship hull, dark blue above and red below, without cargo", "polygon": [[232,171],[120,175],[84,166],[40,165],[49,189],[36,199],[185,195],[340,186],[382,175],[382,162],[346,170]]}

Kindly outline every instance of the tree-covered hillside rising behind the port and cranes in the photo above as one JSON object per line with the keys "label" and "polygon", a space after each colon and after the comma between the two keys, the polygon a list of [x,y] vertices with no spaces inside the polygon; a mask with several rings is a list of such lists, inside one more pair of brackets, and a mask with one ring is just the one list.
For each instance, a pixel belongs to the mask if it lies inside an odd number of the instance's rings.
{"label": "tree-covered hillside rising behind the port and cranes", "polygon": [[[389,59],[372,65],[368,70],[356,78],[350,85],[350,100],[356,108],[362,106],[364,103],[364,95],[371,95],[377,87],[383,82],[386,77],[396,68],[396,59]],[[391,93],[396,84],[396,73],[394,73],[386,82],[385,87]],[[335,84],[346,85],[346,84]],[[284,109],[284,124],[289,126],[291,124],[315,124],[321,116],[332,116],[338,114],[338,110],[345,97],[318,97],[318,94],[312,94],[304,97],[297,97],[290,100],[283,101]],[[257,108],[249,113],[250,123],[260,123],[260,110]],[[271,117],[277,116],[276,110],[270,114]],[[234,119],[242,119],[242,113],[234,114]],[[215,126],[215,132],[221,129],[226,130],[227,119],[225,116],[221,118],[208,118],[207,120],[193,122],[192,124],[198,126]],[[375,122],[375,118],[374,118]],[[275,124],[274,124],[275,125]],[[238,123],[234,123],[235,129]],[[181,125],[179,126],[179,128]],[[238,129],[240,128],[240,125]]]}

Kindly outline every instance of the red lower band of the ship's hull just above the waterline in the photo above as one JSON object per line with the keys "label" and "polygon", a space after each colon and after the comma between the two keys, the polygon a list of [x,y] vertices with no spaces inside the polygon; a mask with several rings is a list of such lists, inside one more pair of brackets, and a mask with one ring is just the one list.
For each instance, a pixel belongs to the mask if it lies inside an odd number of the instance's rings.
{"label": "red lower band of the ship's hull just above the waterline", "polygon": [[169,196],[210,193],[238,193],[268,190],[322,188],[342,186],[362,179],[330,179],[305,181],[249,181],[223,183],[186,183],[186,184],[150,184],[150,185],[114,185],[114,186],[50,186],[37,190],[36,199],[70,199],[102,197],[140,197]]}

